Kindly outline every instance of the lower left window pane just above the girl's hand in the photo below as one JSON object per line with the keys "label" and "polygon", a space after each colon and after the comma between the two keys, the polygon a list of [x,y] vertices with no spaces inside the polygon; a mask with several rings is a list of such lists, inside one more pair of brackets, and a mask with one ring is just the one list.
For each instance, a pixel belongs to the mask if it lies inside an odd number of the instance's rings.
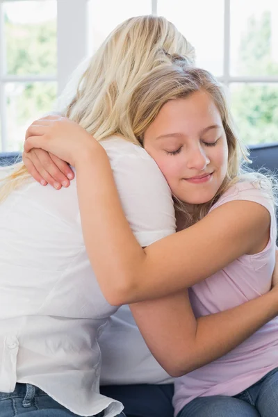
{"label": "lower left window pane just above the girl's hand", "polygon": [[51,82],[6,83],[7,151],[22,150],[26,129],[53,109],[56,91],[56,83]]}

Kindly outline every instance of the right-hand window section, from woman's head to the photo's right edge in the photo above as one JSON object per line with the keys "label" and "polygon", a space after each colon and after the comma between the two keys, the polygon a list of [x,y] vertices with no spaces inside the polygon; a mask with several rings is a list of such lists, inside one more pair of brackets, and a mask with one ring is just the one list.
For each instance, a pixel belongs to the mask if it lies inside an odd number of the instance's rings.
{"label": "right-hand window section, from woman's head to the photo's right edge", "polygon": [[278,141],[277,0],[157,0],[195,46],[197,65],[227,85],[247,144]]}

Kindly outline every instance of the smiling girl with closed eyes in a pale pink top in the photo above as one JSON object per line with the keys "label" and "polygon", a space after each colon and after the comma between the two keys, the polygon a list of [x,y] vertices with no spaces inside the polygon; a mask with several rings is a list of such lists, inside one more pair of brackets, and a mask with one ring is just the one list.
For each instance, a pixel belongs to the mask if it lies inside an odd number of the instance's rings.
{"label": "smiling girl with closed eyes in a pale pink top", "polygon": [[[179,203],[179,227],[185,230],[142,249],[122,213],[103,148],[72,122],[55,118],[35,122],[28,130],[25,149],[42,147],[76,167],[88,256],[112,304],[163,297],[180,291],[186,282],[193,285],[190,299],[197,317],[208,318],[270,291],[275,263],[274,196],[268,179],[246,174],[240,166],[240,156],[246,158],[246,154],[232,129],[220,85],[208,72],[186,69],[181,60],[177,63],[152,70],[138,83],[128,120],[134,136],[167,179]],[[201,282],[204,275],[210,277]],[[188,341],[182,357],[179,338],[174,336],[180,322],[168,316],[170,306],[161,299],[134,304],[132,310],[158,361],[165,367],[167,360],[175,362],[176,376],[189,373],[176,384],[177,413],[276,415],[278,320],[222,359],[191,372],[196,368],[195,354],[198,366],[204,364],[202,349],[215,332],[210,330],[202,339],[201,327],[191,327],[202,347]],[[174,303],[171,307],[179,309]],[[223,401],[215,395],[227,398]]]}

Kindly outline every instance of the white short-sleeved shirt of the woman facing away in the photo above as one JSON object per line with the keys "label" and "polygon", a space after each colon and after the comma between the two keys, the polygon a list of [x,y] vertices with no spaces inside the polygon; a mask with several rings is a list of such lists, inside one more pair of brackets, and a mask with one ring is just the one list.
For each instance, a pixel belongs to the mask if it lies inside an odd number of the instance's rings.
{"label": "white short-sleeved shirt of the woman facing away", "polygon": [[[173,233],[172,197],[156,163],[122,138],[102,144],[140,245]],[[15,190],[0,204],[0,234],[0,391],[30,383],[76,414],[119,414],[122,404],[99,394],[97,342],[116,307],[85,251],[76,182]]]}

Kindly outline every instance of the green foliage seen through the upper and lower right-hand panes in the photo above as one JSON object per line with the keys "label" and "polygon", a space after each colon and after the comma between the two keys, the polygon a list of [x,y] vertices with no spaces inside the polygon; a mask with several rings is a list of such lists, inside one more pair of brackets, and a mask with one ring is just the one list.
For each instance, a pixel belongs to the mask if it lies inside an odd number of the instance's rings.
{"label": "green foliage seen through the upper and lower right-hand panes", "polygon": [[[238,73],[247,76],[278,76],[271,50],[270,13],[249,19],[240,44]],[[232,111],[245,143],[278,141],[278,85],[237,84],[231,89]]]}

